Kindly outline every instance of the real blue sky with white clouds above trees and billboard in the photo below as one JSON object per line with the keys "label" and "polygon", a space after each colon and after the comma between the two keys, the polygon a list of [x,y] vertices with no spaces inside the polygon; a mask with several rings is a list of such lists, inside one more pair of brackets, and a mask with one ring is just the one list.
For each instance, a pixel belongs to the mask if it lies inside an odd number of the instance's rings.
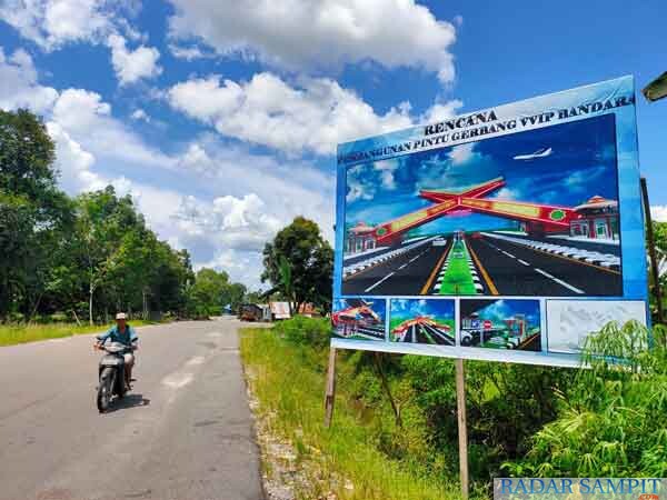
{"label": "real blue sky with white clouds above trees and billboard", "polygon": [[[0,0],[0,108],[43,117],[70,194],[111,183],[197,268],[260,286],[296,216],[332,240],[336,144],[667,70],[664,0]],[[667,220],[667,100],[638,96]]]}

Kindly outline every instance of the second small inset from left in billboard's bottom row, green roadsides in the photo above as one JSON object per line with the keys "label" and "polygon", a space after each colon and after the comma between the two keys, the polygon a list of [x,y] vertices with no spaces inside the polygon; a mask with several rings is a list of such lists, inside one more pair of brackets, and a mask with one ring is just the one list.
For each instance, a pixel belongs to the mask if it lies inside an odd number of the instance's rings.
{"label": "second small inset from left in billboard's bottom row, green roadsides", "polygon": [[455,346],[454,300],[391,299],[389,340]]}

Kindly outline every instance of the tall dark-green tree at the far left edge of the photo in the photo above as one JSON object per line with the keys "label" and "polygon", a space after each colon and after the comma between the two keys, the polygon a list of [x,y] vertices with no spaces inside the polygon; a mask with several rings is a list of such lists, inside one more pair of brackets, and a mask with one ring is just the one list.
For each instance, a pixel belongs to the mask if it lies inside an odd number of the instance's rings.
{"label": "tall dark-green tree at the far left edge of the photo", "polygon": [[71,229],[72,207],[58,189],[53,160],[38,117],[0,110],[0,314],[37,309],[53,250]]}

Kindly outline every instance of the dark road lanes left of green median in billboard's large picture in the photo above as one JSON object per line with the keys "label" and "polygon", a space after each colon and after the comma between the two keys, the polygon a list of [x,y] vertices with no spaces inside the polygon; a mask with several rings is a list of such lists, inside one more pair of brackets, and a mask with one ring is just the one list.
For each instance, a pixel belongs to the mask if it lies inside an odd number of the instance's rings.
{"label": "dark road lanes left of green median in billboard's large picture", "polygon": [[[449,244],[449,242],[448,242]],[[431,243],[361,271],[342,282],[345,294],[418,296],[447,247]]]}

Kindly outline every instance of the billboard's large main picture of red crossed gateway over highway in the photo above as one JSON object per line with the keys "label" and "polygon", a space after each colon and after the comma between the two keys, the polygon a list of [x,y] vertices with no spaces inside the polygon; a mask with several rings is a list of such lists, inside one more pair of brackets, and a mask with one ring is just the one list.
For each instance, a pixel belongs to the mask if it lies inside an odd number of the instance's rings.
{"label": "billboard's large main picture of red crossed gateway over highway", "polygon": [[346,182],[342,293],[623,296],[611,114],[358,163]]}

